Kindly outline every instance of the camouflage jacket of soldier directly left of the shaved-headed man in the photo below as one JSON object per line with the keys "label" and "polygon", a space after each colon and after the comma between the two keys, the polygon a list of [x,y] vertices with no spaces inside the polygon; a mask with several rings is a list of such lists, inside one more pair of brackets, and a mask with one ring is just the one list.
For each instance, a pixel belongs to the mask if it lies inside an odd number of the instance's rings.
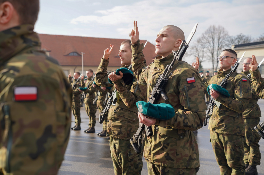
{"label": "camouflage jacket of soldier directly left of the shaved-headed man", "polygon": [[[101,63],[96,71],[96,84],[104,87],[110,87],[108,82],[107,66],[109,60],[102,58]],[[129,66],[122,66],[128,68]],[[137,114],[136,102],[144,99],[144,96],[136,96],[134,92],[137,91],[137,80],[133,84],[125,86],[122,79],[113,81],[114,88],[117,90],[115,96],[117,97],[117,104],[121,106],[111,105],[109,114],[107,116],[107,135],[123,140],[130,140],[136,133],[139,126],[139,119]]]}

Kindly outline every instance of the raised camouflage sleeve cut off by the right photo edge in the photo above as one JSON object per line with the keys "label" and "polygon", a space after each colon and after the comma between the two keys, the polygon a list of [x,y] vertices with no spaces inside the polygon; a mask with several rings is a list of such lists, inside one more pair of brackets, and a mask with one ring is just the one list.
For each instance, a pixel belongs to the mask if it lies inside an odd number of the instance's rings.
{"label": "raised camouflage sleeve cut off by the right photo edge", "polygon": [[258,97],[264,99],[264,79],[261,77],[260,71],[249,70],[251,74],[252,86],[256,91]]}

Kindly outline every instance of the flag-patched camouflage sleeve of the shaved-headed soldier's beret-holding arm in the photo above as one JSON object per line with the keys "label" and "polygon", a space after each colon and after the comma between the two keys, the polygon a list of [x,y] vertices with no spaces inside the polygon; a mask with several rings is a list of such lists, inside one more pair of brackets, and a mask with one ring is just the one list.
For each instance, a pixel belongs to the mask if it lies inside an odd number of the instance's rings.
{"label": "flag-patched camouflage sleeve of the shaved-headed soldier's beret-holding arm", "polygon": [[[173,85],[179,89],[179,99],[183,109],[175,111],[175,117],[159,121],[159,125],[169,125],[172,128],[197,130],[203,126],[205,110],[207,109],[202,87],[202,80],[197,71],[182,73],[180,80]],[[194,77],[195,82],[188,83],[187,79]]]}

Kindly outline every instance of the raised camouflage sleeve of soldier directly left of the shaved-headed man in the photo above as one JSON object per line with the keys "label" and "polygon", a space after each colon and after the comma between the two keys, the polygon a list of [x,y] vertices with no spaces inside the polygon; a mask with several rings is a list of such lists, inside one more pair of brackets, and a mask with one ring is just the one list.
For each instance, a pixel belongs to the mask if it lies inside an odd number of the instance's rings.
{"label": "raised camouflage sleeve of soldier directly left of the shaved-headed man", "polygon": [[110,73],[107,73],[108,64],[109,64],[109,59],[105,60],[104,58],[102,58],[101,63],[99,64],[96,70],[96,74],[95,74],[95,83],[98,86],[103,86],[103,87],[113,86],[108,81],[108,75],[110,74]]}

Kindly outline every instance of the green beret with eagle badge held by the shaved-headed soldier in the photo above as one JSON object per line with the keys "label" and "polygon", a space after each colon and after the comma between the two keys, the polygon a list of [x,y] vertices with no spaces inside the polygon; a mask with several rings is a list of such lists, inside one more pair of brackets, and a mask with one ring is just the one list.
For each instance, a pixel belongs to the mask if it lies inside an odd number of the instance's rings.
{"label": "green beret with eagle badge held by the shaved-headed soldier", "polygon": [[174,108],[170,104],[160,103],[160,104],[151,104],[145,101],[136,102],[138,111],[158,120],[168,120],[175,115]]}

